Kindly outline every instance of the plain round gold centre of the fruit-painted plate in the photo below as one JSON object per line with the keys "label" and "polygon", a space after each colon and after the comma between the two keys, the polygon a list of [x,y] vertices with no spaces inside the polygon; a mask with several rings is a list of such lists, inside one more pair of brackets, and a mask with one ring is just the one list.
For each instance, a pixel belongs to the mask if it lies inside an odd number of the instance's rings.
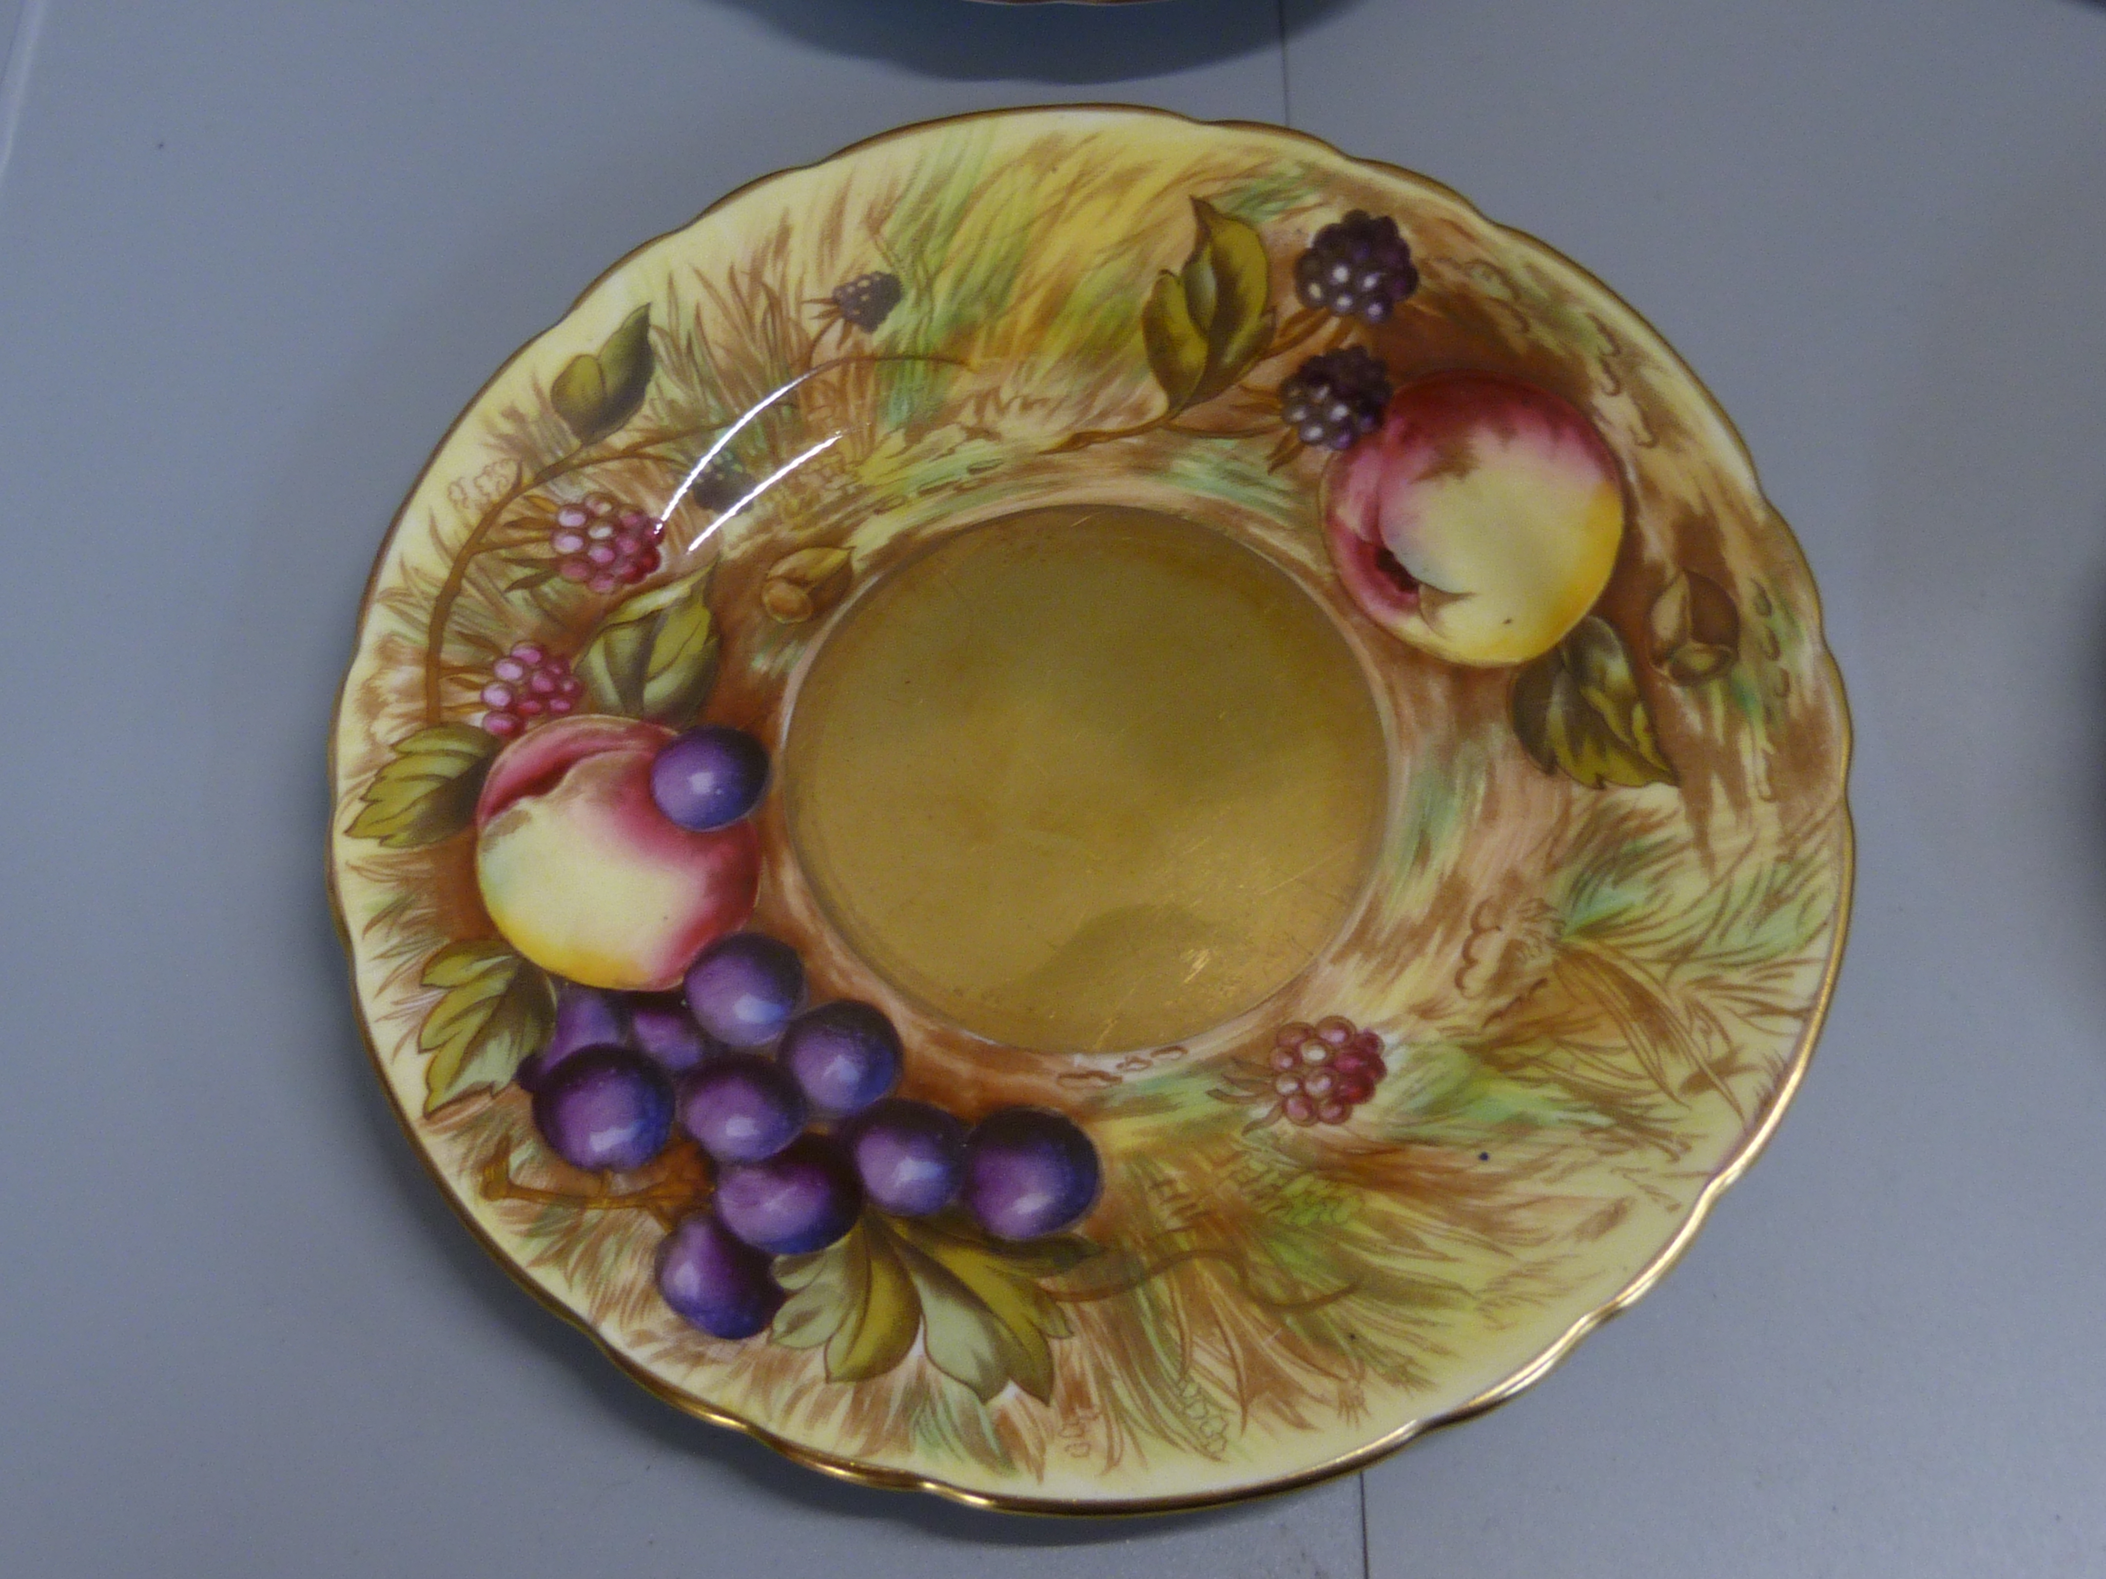
{"label": "plain round gold centre of the fruit-painted plate", "polygon": [[847,943],[994,1042],[1125,1051],[1337,937],[1386,749],[1331,617],[1175,516],[1057,507],[882,577],[813,657],[790,836]]}

